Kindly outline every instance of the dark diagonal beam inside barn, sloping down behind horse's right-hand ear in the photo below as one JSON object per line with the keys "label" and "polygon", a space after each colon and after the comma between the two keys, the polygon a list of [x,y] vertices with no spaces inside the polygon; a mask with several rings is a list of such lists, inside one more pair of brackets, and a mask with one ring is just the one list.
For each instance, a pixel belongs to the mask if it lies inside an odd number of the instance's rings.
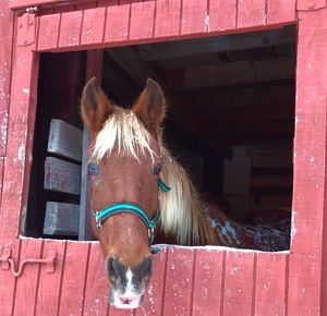
{"label": "dark diagonal beam inside barn, sloping down behind horse's right-hand ear", "polygon": [[148,77],[152,77],[161,86],[170,105],[169,116],[186,133],[192,134],[193,137],[216,153],[221,153],[220,148],[226,150],[229,145],[223,139],[211,136],[207,126],[185,109],[179,98],[170,92],[169,87],[155,71],[142,60],[133,47],[112,48],[108,49],[107,52],[141,87],[145,85]]}

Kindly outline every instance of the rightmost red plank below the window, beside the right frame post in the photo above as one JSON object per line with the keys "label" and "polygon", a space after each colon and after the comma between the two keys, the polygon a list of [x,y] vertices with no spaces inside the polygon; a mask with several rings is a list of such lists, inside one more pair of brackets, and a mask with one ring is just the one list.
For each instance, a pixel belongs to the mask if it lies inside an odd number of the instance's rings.
{"label": "rightmost red plank below the window, beside the right frame post", "polygon": [[284,315],[287,267],[287,254],[257,254],[254,315]]}

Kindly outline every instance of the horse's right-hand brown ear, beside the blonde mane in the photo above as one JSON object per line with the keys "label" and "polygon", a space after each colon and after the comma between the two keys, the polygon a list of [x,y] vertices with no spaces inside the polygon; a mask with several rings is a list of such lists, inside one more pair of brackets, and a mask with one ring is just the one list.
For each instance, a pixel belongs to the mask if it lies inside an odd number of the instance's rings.
{"label": "horse's right-hand brown ear, beside the blonde mane", "polygon": [[166,101],[161,87],[153,80],[146,81],[146,86],[141,93],[133,111],[141,118],[145,126],[157,132],[166,114]]}

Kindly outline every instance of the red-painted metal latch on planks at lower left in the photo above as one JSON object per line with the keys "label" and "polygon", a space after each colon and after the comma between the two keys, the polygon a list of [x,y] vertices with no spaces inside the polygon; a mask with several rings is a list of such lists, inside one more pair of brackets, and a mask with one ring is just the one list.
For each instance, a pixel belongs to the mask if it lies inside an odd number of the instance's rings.
{"label": "red-painted metal latch on planks at lower left", "polygon": [[[1,251],[1,248],[0,248],[0,251]],[[16,269],[15,260],[13,258],[11,258],[11,248],[10,247],[3,247],[2,252],[0,253],[1,269],[2,270],[11,269],[11,274],[15,278],[19,278],[22,275],[24,266],[26,264],[43,264],[43,265],[46,265],[47,266],[47,272],[48,274],[53,274],[55,272],[56,258],[57,258],[57,252],[56,251],[49,251],[48,256],[44,259],[37,259],[37,258],[22,259],[17,264],[17,269]]]}

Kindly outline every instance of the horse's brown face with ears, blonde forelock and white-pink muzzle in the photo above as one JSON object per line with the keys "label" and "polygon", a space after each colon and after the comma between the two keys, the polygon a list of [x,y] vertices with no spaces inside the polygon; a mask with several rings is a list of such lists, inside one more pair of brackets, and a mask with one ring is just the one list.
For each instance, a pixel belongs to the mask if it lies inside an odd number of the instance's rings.
{"label": "horse's brown face with ears, blonde forelock and white-pink muzzle", "polygon": [[[83,90],[81,110],[90,130],[92,210],[125,203],[153,219],[159,208],[157,135],[165,116],[161,88],[148,80],[137,102],[124,110],[112,105],[90,80]],[[153,270],[147,227],[135,214],[119,212],[94,232],[106,257],[110,303],[120,308],[140,306]]]}

